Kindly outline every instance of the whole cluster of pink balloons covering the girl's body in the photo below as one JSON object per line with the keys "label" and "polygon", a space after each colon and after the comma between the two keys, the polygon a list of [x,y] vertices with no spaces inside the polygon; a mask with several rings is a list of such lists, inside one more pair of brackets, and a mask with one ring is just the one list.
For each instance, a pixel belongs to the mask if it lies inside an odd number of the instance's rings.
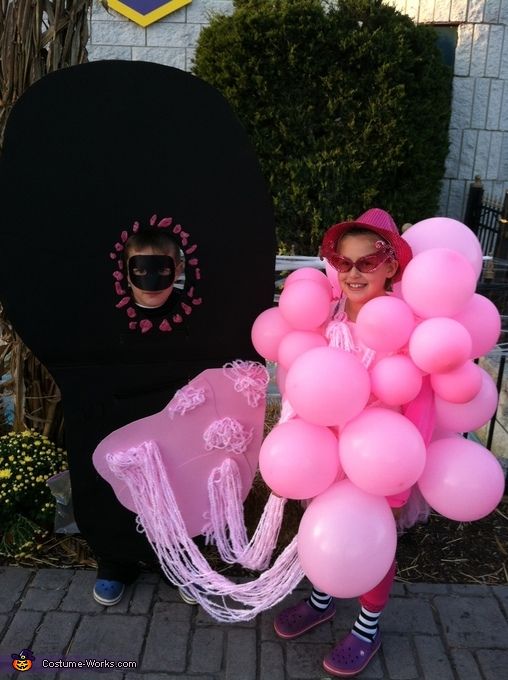
{"label": "whole cluster of pink balloons covering the girl's body", "polygon": [[[448,218],[419,222],[403,238],[414,257],[401,283],[365,304],[356,321],[356,338],[376,352],[369,370],[355,354],[328,346],[337,297],[329,266],[326,275],[291,274],[279,307],[252,329],[257,351],[277,362],[281,393],[296,413],[266,437],[260,471],[276,494],[313,499],[299,557],[316,587],[337,597],[374,587],[394,558],[386,497],[417,484],[438,512],[471,521],[504,492],[497,459],[457,434],[488,422],[497,407],[492,378],[473,361],[500,333],[497,309],[475,293],[480,244]],[[421,426],[433,415],[422,408],[435,411],[433,437]]]}

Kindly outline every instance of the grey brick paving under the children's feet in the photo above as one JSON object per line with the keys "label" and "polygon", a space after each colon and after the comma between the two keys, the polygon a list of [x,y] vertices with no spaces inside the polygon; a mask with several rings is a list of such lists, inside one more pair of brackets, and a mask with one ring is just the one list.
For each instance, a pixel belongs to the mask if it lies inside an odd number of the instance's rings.
{"label": "grey brick paving under the children's feet", "polygon": [[[94,579],[93,571],[0,568],[1,678],[320,680],[329,677],[323,656],[357,612],[342,600],[333,622],[285,642],[273,632],[274,611],[305,596],[305,583],[276,609],[229,625],[184,604],[157,574],[142,574],[109,608],[92,599]],[[397,582],[381,629],[382,649],[360,678],[508,678],[508,586]],[[22,649],[35,657],[25,672],[11,665]]]}

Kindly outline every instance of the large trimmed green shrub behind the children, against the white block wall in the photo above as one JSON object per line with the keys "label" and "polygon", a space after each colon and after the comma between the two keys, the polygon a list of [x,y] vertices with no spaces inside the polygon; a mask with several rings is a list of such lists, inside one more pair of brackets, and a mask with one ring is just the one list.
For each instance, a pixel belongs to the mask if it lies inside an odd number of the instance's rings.
{"label": "large trimmed green shrub behind the children, against the white block wall", "polygon": [[279,245],[314,254],[370,207],[435,214],[451,72],[432,28],[380,0],[237,0],[202,32],[194,72],[229,101],[271,190]]}

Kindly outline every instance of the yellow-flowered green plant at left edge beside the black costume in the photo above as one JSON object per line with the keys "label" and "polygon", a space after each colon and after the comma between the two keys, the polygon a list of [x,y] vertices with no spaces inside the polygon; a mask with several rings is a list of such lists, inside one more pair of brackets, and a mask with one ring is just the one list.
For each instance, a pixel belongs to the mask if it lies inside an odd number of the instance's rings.
{"label": "yellow-flowered green plant at left edge beside the black costume", "polygon": [[65,468],[64,451],[35,430],[0,437],[0,526],[22,516],[52,527],[55,502],[46,480]]}

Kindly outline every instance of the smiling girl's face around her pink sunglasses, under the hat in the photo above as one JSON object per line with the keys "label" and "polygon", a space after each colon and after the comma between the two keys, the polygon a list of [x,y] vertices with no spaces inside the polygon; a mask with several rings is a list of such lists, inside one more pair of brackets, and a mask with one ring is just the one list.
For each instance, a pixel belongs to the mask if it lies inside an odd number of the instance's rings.
{"label": "smiling girl's face around her pink sunglasses, under the hat", "polygon": [[[339,243],[338,253],[356,262],[360,257],[376,253],[376,241],[379,237],[375,234],[348,234]],[[379,267],[368,273],[359,272],[353,267],[349,272],[339,272],[339,283],[342,291],[351,302],[356,305],[364,305],[369,300],[380,295],[385,295],[385,283],[395,275],[398,262],[387,260]]]}

